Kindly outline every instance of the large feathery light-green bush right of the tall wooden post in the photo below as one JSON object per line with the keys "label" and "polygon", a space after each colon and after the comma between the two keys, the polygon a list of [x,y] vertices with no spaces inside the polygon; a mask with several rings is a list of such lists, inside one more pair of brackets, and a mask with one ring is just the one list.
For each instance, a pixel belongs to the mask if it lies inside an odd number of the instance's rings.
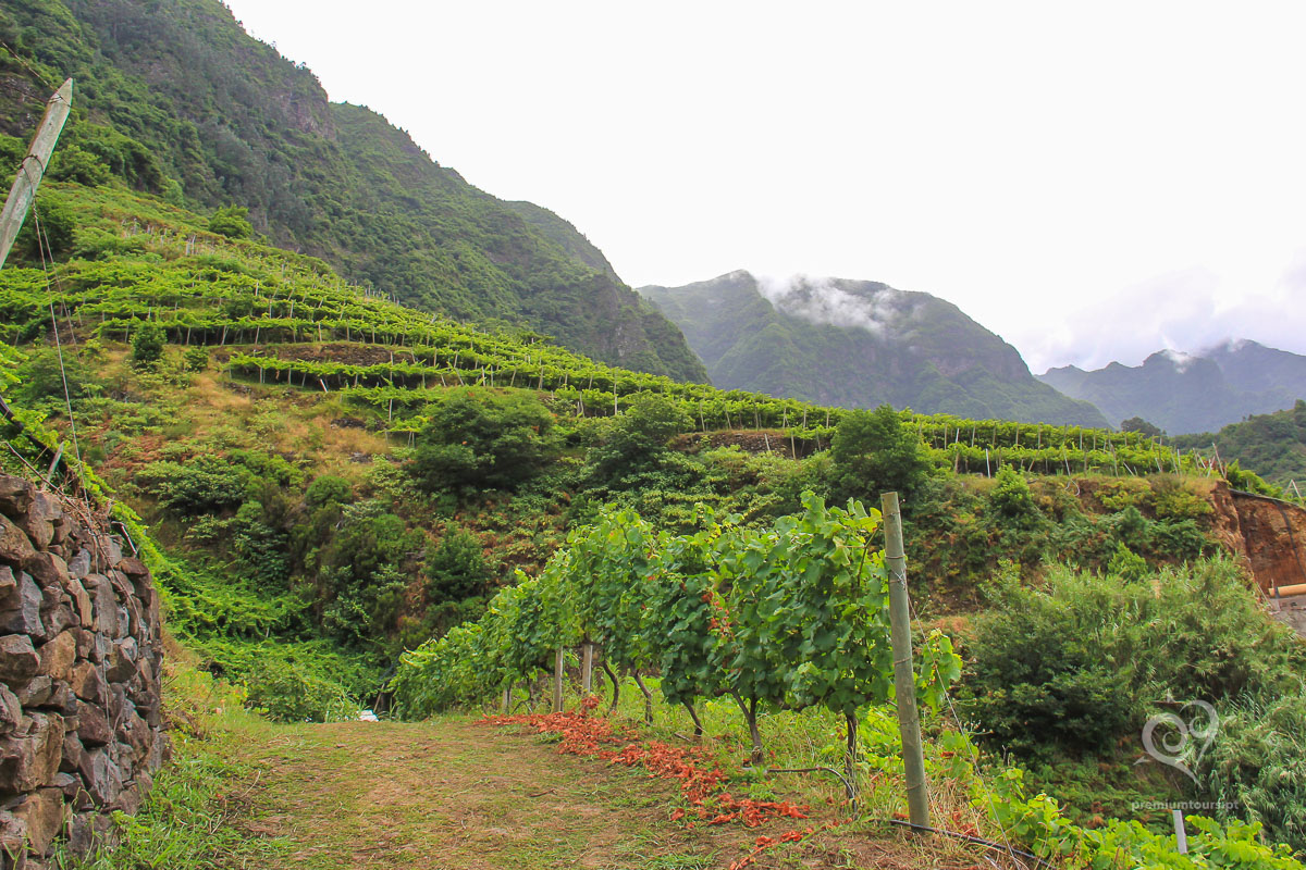
{"label": "large feathery light-green bush right of the tall wooden post", "polygon": [[1054,569],[1049,588],[993,590],[966,647],[965,707],[1027,757],[1109,753],[1166,697],[1226,703],[1299,693],[1306,650],[1225,558],[1127,583]]}

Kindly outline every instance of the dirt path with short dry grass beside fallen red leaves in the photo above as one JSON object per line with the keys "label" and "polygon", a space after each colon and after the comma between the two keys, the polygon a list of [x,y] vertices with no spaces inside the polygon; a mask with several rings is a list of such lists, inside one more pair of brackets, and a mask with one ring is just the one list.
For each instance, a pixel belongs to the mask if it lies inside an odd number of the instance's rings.
{"label": "dirt path with short dry grass beside fallen red leaves", "polygon": [[756,836],[687,830],[674,784],[487,725],[295,727],[252,758],[248,827],[289,840],[283,867],[717,867]]}

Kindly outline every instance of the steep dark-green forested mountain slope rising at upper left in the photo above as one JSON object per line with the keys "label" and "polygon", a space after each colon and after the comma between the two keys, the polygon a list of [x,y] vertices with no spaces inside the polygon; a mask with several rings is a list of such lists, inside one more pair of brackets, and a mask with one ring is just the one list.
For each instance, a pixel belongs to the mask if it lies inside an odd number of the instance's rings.
{"label": "steep dark-green forested mountain slope rising at upper left", "polygon": [[329,103],[217,0],[5,4],[0,40],[17,53],[0,57],[0,133],[29,136],[50,82],[77,80],[56,179],[116,175],[175,203],[248,206],[274,244],[410,305],[707,380],[571,224],[478,190],[375,112]]}

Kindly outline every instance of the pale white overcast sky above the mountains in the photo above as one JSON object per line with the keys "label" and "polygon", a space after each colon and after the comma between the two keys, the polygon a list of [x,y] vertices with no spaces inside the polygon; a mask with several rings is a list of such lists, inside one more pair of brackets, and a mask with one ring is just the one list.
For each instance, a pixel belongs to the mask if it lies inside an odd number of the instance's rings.
{"label": "pale white overcast sky above the mountains", "polygon": [[229,0],[631,284],[956,303],[1041,372],[1306,353],[1306,3]]}

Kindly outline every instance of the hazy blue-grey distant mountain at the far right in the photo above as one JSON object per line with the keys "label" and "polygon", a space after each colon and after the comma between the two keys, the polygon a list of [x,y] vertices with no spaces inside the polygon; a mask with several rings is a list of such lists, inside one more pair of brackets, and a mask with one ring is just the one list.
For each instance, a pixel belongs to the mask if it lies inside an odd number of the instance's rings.
{"label": "hazy blue-grey distant mountain at the far right", "polygon": [[1038,380],[1092,402],[1114,423],[1138,416],[1170,434],[1215,432],[1306,397],[1306,356],[1241,340],[1195,355],[1158,351],[1138,367],[1067,365]]}

